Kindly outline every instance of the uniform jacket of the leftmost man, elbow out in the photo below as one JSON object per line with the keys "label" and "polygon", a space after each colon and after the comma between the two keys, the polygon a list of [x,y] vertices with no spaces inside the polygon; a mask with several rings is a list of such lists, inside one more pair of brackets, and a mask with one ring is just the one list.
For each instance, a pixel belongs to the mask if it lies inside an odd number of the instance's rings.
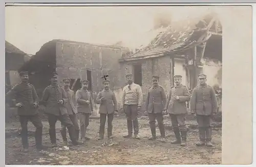
{"label": "uniform jacket of the leftmost man, elbow out", "polygon": [[33,103],[38,103],[39,99],[33,85],[29,83],[20,83],[15,85],[6,93],[6,97],[13,97],[16,103],[23,103],[23,107],[18,107],[18,115],[35,115],[37,109]]}

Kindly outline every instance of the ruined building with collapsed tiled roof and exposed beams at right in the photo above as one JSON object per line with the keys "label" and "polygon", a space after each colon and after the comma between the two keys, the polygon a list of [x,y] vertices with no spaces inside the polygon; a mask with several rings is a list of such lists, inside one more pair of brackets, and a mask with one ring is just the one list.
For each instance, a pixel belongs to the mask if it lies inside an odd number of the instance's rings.
{"label": "ruined building with collapsed tiled roof and exposed beams at right", "polygon": [[[222,27],[215,14],[172,23],[152,41],[132,55],[119,60],[122,70],[132,71],[135,83],[141,85],[143,99],[152,85],[152,76],[166,93],[174,85],[173,76],[181,75],[189,89],[197,86],[200,73],[207,83],[221,87]],[[122,71],[120,70],[120,71]]]}

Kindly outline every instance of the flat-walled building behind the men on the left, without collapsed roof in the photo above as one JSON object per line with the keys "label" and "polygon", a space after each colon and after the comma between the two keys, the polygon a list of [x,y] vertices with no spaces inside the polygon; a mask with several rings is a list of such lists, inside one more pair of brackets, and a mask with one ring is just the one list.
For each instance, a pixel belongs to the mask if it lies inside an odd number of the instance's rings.
{"label": "flat-walled building behind the men on the left, without collapsed roof", "polygon": [[[39,97],[50,85],[51,75],[56,70],[59,75],[58,83],[62,85],[63,78],[70,78],[74,91],[81,87],[81,80],[89,80],[89,90],[95,99],[98,92],[103,89],[103,75],[109,76],[107,79],[111,82],[111,89],[124,85],[118,73],[118,59],[124,51],[124,47],[111,45],[52,40],[42,45],[20,70],[29,71],[30,83],[35,86]],[[94,111],[94,116],[98,115],[97,110]]]}

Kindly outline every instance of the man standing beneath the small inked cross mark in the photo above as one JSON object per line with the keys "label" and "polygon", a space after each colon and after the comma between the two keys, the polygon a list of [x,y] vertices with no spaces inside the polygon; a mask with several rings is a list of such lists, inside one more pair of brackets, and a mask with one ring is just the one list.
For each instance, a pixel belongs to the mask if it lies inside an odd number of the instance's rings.
{"label": "man standing beneath the small inked cross mark", "polygon": [[98,93],[96,102],[100,104],[99,113],[100,113],[100,128],[99,128],[99,138],[102,140],[104,138],[105,131],[105,122],[106,116],[108,115],[108,138],[112,139],[112,121],[114,114],[117,113],[117,101],[115,93],[109,89],[110,81],[103,81],[104,89]]}

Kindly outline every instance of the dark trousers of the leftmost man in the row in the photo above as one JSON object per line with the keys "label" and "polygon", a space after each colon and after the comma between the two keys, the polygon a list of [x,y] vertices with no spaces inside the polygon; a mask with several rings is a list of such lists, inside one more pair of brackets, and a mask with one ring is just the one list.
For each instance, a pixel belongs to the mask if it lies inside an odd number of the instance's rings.
{"label": "dark trousers of the leftmost man in the row", "polygon": [[40,147],[42,144],[42,122],[38,114],[35,115],[19,115],[19,122],[22,126],[21,136],[23,148],[28,148],[28,121],[32,122],[35,126],[35,142],[36,147]]}

